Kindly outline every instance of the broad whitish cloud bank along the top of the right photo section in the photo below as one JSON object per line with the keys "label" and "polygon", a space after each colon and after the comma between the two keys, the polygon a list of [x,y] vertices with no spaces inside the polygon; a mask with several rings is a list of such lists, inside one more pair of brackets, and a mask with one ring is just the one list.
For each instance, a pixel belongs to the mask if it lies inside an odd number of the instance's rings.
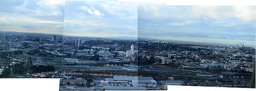
{"label": "broad whitish cloud bank along the top of the right photo section", "polygon": [[255,21],[255,6],[138,6],[138,18],[148,20]]}

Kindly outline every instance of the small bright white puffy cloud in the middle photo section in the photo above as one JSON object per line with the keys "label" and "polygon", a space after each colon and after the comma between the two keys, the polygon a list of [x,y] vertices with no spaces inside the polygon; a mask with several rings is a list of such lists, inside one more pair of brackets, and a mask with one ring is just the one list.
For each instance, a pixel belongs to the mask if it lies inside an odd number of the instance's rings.
{"label": "small bright white puffy cloud in the middle photo section", "polygon": [[81,11],[87,12],[88,14],[94,15],[94,16],[97,16],[97,17],[105,16],[105,14],[103,14],[100,11],[98,11],[97,9],[95,9],[95,7],[93,7],[92,5],[90,7],[86,7],[85,5],[79,6],[79,9]]}

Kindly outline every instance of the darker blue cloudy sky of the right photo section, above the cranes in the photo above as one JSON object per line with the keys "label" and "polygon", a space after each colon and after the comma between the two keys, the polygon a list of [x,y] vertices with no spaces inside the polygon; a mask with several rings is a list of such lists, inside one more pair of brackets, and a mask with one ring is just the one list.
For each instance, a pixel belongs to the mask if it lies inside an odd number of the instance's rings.
{"label": "darker blue cloudy sky of the right photo section, above the cranes", "polygon": [[255,6],[141,5],[138,36],[255,46],[255,18]]}

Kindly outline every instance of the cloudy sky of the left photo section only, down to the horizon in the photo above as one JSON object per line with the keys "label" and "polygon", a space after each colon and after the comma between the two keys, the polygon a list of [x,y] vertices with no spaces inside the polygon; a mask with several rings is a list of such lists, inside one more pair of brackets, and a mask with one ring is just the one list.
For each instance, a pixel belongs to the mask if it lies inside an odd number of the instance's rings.
{"label": "cloudy sky of the left photo section only, down to the horizon", "polygon": [[65,0],[0,0],[0,31],[62,34]]}

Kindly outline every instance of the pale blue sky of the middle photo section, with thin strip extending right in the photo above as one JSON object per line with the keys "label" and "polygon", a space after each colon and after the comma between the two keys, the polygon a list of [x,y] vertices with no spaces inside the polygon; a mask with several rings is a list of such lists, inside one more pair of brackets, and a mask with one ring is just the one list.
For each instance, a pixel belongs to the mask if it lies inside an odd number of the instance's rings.
{"label": "pale blue sky of the middle photo section, with thin strip extending right", "polygon": [[63,35],[137,37],[137,5],[155,4],[66,1]]}

